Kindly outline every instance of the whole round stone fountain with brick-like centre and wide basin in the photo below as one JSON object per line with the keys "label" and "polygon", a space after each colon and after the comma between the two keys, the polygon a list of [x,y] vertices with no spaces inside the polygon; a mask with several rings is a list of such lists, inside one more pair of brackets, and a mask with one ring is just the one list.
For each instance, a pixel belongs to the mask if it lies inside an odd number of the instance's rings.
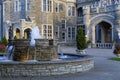
{"label": "whole round stone fountain with brick-like centre and wide basin", "polygon": [[[34,39],[32,38],[32,40]],[[0,76],[61,75],[84,72],[94,67],[91,56],[63,53],[55,39],[35,37],[33,44],[30,43],[32,40],[17,39],[13,41],[13,61],[0,60]],[[59,55],[57,55],[58,50]],[[27,60],[20,61],[20,55],[24,55]]]}

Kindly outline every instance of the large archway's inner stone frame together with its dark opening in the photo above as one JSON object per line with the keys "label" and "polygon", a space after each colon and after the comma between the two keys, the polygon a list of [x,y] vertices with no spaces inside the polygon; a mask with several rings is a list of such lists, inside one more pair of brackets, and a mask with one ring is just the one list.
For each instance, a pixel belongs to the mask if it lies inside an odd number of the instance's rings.
{"label": "large archway's inner stone frame together with its dark opening", "polygon": [[[98,21],[96,21],[94,23],[91,23],[91,24],[92,25],[90,26],[90,39],[92,40],[93,44],[97,43],[97,42],[108,43],[108,42],[112,42],[113,41],[113,23],[111,21],[108,21],[108,20],[98,20]],[[99,26],[99,29],[102,30],[101,32],[99,32],[99,36],[101,36],[100,41],[97,40],[97,36],[98,35],[96,34],[96,28],[97,28],[96,26]],[[108,33],[106,33],[106,31],[109,32],[109,30],[110,30],[110,35],[108,35]],[[107,36],[107,37],[110,36],[110,40],[107,41],[108,39],[105,36]]]}

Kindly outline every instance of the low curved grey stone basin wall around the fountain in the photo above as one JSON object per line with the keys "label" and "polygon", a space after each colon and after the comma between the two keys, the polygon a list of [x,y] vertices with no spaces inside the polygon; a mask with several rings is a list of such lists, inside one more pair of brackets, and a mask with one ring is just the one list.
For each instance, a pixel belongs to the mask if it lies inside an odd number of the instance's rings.
{"label": "low curved grey stone basin wall around the fountain", "polygon": [[[72,54],[73,55],[73,54]],[[50,76],[69,73],[85,72],[94,67],[93,57],[89,55],[79,56],[70,60],[50,61],[0,61],[0,76]]]}

